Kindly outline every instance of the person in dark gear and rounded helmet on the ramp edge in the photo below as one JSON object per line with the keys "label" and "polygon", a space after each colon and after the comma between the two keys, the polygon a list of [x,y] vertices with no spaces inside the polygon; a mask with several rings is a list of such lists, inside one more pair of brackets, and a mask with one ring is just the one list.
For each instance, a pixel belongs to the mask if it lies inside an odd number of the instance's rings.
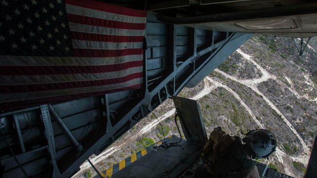
{"label": "person in dark gear and rounded helmet on the ramp edge", "polygon": [[252,158],[267,158],[276,146],[276,138],[268,130],[251,130],[241,140],[217,127],[210,134],[202,159],[207,171],[219,178],[259,178]]}

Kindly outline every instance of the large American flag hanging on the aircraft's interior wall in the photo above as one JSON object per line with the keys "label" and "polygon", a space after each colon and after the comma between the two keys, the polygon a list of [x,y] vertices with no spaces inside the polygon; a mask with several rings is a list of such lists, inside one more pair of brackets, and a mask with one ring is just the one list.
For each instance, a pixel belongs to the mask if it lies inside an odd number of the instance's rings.
{"label": "large American flag hanging on the aircraft's interior wall", "polygon": [[0,0],[0,107],[139,89],[146,12],[92,0]]}

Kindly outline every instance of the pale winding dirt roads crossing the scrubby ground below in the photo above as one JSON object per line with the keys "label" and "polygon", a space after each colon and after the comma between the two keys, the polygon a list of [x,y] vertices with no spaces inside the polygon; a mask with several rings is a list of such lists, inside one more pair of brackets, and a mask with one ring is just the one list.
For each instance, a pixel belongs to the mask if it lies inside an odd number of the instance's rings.
{"label": "pale winding dirt roads crossing the scrubby ground below", "polygon": [[[258,86],[259,83],[261,83],[263,81],[266,81],[268,79],[277,80],[277,78],[274,75],[272,75],[269,72],[267,72],[257,62],[255,62],[250,55],[245,54],[240,49],[238,49],[237,52],[239,54],[241,54],[245,60],[248,60],[248,61],[252,62],[254,65],[257,66],[258,70],[262,73],[262,76],[260,78],[257,78],[257,79],[238,79],[238,78],[230,76],[230,75],[228,75],[228,74],[226,74],[226,73],[224,73],[224,72],[222,72],[222,71],[220,71],[218,69],[216,69],[215,71],[218,72],[219,74],[223,75],[224,77],[228,78],[228,79],[232,79],[234,81],[237,81],[238,83],[241,83],[241,84],[251,88],[258,95],[262,96],[263,99],[265,100],[265,102],[273,110],[275,110],[278,115],[281,116],[283,121],[289,126],[291,131],[298,138],[298,140],[300,141],[300,143],[302,145],[302,148],[304,150],[304,152],[299,157],[289,157],[289,156],[287,156],[287,154],[285,154],[279,148],[277,148],[277,151],[276,151],[277,158],[278,158],[279,162],[284,166],[285,173],[286,174],[291,174],[292,171],[288,168],[288,166],[284,165],[284,158],[288,157],[288,158],[291,158],[293,160],[299,161],[299,162],[303,163],[304,165],[307,165],[308,155],[309,155],[309,148],[307,147],[307,145],[304,142],[303,138],[301,138],[299,136],[299,134],[297,133],[297,131],[295,130],[293,125],[283,116],[283,114],[277,109],[277,107],[258,90],[257,86]],[[288,78],[286,78],[286,79],[287,79],[287,81],[289,81]],[[220,82],[218,82],[218,81],[216,81],[214,79],[211,79],[208,76],[203,81],[204,81],[204,88],[197,95],[192,97],[191,99],[194,99],[194,100],[201,99],[202,97],[208,95],[210,92],[212,92],[216,88],[222,87],[222,88],[228,90],[240,102],[240,104],[246,109],[246,111],[251,115],[253,120],[258,124],[258,126],[260,128],[265,128],[265,126],[258,119],[256,119],[255,115],[253,114],[252,110],[248,107],[248,105],[230,87],[228,87],[228,86],[226,86],[226,85],[224,85],[224,84],[222,84],[222,83],[220,83]],[[284,85],[284,86],[288,87],[287,85]],[[292,89],[292,88],[290,88],[290,91],[293,92],[297,97],[305,97],[305,96],[299,96],[298,93],[296,93],[296,91],[294,89]],[[311,100],[311,99],[309,99],[309,100]],[[312,99],[312,100],[314,100],[314,99]],[[158,106],[158,107],[166,107],[166,105],[165,106]],[[174,106],[170,106],[170,107],[174,107]],[[161,122],[164,119],[167,119],[167,118],[171,117],[174,113],[175,113],[175,108],[171,109],[170,111],[167,111],[164,115],[160,116],[158,118],[158,120]],[[113,146],[109,147],[108,149],[106,149],[104,152],[102,152],[98,156],[96,156],[94,158],[91,158],[91,161],[94,164],[97,164],[100,161],[103,161],[108,156],[110,156],[110,155],[114,154],[115,152],[117,152],[122,147],[124,147],[124,146],[128,145],[129,143],[131,143],[131,141],[134,141],[134,140],[136,140],[138,138],[141,138],[142,135],[148,133],[149,131],[151,131],[151,129],[155,128],[158,125],[158,120],[154,119],[152,122],[150,122],[149,124],[145,125],[142,129],[140,129],[138,132],[134,133],[129,138],[126,138],[124,141],[120,141],[120,143],[116,143],[116,142],[113,143]],[[80,171],[76,175],[79,175],[81,172],[85,171],[89,167],[90,167],[89,163],[87,161],[84,162],[80,166]],[[74,175],[74,176],[76,176],[76,175]]]}

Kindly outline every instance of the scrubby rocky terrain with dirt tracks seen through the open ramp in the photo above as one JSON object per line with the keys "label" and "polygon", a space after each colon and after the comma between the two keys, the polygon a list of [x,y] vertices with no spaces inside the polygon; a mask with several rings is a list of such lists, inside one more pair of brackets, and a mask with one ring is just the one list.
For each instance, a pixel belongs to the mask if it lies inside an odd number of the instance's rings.
{"label": "scrubby rocky terrain with dirt tracks seen through the open ramp", "polygon": [[[268,160],[278,171],[301,178],[317,133],[317,38],[298,56],[291,38],[256,35],[195,88],[178,96],[198,100],[207,134],[218,126],[243,137],[249,129],[275,133],[277,151]],[[168,99],[91,160],[100,171],[168,135],[178,135]],[[75,177],[96,173],[84,163]]]}

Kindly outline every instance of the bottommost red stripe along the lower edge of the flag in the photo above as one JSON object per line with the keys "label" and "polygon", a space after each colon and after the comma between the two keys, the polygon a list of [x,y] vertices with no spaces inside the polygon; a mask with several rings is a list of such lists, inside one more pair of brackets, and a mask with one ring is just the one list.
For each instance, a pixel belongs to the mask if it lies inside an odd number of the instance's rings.
{"label": "bottommost red stripe along the lower edge of the flag", "polygon": [[41,99],[27,99],[27,100],[13,101],[13,102],[5,102],[5,103],[0,103],[0,108],[3,111],[9,111],[9,110],[23,108],[26,106],[36,106],[40,104],[56,103],[56,102],[80,99],[80,98],[91,97],[91,96],[99,96],[99,95],[104,95],[107,93],[114,93],[114,92],[119,92],[124,90],[141,89],[141,87],[142,87],[142,84],[136,84],[133,86],[99,91],[99,92],[80,93],[80,94],[65,95],[65,96],[58,96],[58,97],[47,97],[47,98],[41,98]]}

